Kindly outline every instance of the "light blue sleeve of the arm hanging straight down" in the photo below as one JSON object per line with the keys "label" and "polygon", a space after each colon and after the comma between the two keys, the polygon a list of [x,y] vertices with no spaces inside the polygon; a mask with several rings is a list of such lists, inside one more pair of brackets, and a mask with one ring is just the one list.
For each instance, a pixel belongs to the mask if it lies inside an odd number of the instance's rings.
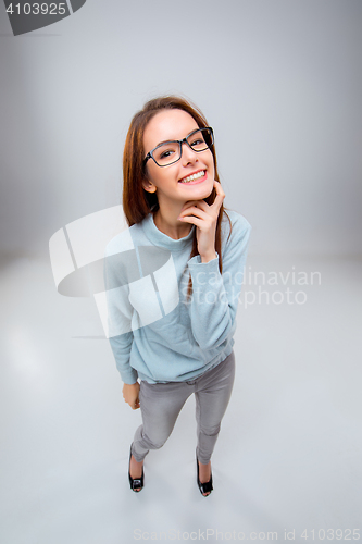
{"label": "light blue sleeve of the arm hanging straight down", "polygon": [[138,374],[129,363],[134,342],[132,331],[133,308],[129,302],[129,279],[124,267],[124,255],[117,254],[105,257],[104,283],[110,345],[123,382],[132,384],[137,381]]}

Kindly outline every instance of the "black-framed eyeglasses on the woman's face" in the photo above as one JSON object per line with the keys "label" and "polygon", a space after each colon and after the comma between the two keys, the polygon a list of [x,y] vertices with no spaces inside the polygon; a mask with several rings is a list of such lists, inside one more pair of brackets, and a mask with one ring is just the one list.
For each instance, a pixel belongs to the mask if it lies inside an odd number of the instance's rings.
{"label": "black-framed eyeglasses on the woman's face", "polygon": [[197,128],[184,139],[164,141],[147,153],[143,165],[149,159],[153,159],[158,166],[168,166],[179,161],[183,154],[183,144],[187,144],[192,151],[200,153],[209,149],[214,143],[214,133],[211,126]]}

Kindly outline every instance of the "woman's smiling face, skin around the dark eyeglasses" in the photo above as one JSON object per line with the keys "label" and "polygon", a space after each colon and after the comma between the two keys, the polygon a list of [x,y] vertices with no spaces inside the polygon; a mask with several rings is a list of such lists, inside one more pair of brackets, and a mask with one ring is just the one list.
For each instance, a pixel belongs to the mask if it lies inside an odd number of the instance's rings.
{"label": "woman's smiling face, skin around the dark eyeglasses", "polygon": [[[190,132],[198,128],[198,124],[184,110],[163,110],[157,113],[143,133],[143,150],[146,154],[161,141],[183,139]],[[184,205],[188,200],[207,198],[214,184],[214,159],[210,149],[196,152],[187,144],[183,144],[183,154],[179,161],[168,166],[158,166],[152,159],[147,161],[147,180],[143,188],[158,196],[160,208],[170,205]],[[196,173],[204,175],[183,183]]]}

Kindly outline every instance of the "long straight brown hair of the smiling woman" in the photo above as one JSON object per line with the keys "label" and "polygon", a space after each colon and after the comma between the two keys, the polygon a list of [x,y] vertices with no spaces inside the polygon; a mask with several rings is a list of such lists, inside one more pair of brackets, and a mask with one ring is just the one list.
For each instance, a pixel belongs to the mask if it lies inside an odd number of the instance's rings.
{"label": "long straight brown hair of the smiling woman", "polygon": [[[177,96],[164,96],[149,100],[133,118],[126,137],[126,143],[123,152],[123,210],[129,226],[135,223],[140,223],[149,213],[153,213],[159,209],[158,197],[155,193],[148,193],[143,189],[142,181],[145,178],[145,150],[143,150],[143,133],[145,128],[151,119],[162,110],[183,110],[195,119],[199,128],[209,126],[202,112],[185,98]],[[215,146],[210,148],[214,159],[215,180],[219,182]],[[216,197],[215,188],[211,195],[204,199],[208,205],[212,205]],[[224,214],[223,205],[220,208],[216,232],[215,232],[215,250],[219,254],[220,272],[223,270],[221,255],[221,223]],[[226,214],[226,212],[225,212]],[[199,255],[196,239],[196,228],[192,242],[192,250],[190,258]],[[191,287],[191,284],[189,284]],[[190,288],[188,289],[190,292]]]}

